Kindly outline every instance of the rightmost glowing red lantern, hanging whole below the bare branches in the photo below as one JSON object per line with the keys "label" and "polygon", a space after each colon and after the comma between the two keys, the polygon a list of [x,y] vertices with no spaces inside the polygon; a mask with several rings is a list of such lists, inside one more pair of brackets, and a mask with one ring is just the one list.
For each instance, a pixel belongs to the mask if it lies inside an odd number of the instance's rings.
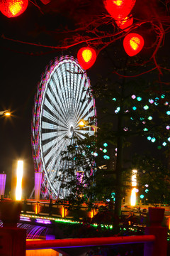
{"label": "rightmost glowing red lantern, hanging whole below the bare branches", "polygon": [[129,56],[140,53],[144,46],[144,39],[137,33],[129,33],[123,40],[123,47]]}

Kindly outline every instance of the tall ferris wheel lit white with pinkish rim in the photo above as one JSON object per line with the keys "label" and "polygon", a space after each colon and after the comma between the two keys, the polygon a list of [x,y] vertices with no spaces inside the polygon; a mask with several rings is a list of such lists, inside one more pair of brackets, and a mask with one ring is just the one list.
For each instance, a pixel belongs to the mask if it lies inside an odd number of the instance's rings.
{"label": "tall ferris wheel lit white with pinkish rim", "polygon": [[35,171],[42,172],[43,196],[64,198],[69,193],[62,181],[70,163],[62,161],[61,152],[75,137],[94,134],[90,126],[79,127],[81,119],[91,118],[96,120],[96,107],[85,71],[72,57],[56,58],[42,75],[33,108],[33,160]]}

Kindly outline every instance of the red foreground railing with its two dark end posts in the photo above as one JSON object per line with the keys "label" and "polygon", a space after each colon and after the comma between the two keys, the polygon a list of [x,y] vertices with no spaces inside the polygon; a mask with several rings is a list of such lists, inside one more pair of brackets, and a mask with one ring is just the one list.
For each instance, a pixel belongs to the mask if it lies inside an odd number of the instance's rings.
{"label": "red foreground railing with its two dark end posts", "polygon": [[[85,247],[98,245],[118,245],[128,243],[144,243],[144,256],[167,256],[167,228],[162,227],[164,208],[149,208],[149,226],[145,235],[108,237],[108,238],[74,238],[64,240],[32,240],[26,242],[26,230],[16,228],[21,203],[0,203],[1,220],[4,227],[0,228],[0,255],[25,256],[26,250],[47,248]],[[13,213],[18,212],[13,218]]]}

